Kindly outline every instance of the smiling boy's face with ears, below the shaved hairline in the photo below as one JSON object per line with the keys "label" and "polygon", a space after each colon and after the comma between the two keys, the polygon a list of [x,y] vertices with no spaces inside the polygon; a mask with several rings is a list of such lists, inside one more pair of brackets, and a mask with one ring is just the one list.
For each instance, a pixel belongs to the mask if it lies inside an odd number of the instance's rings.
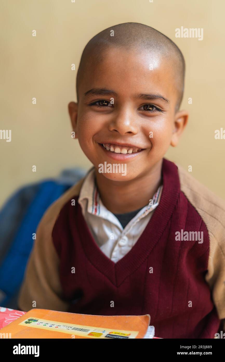
{"label": "smiling boy's face with ears, below the shaved hairline", "polygon": [[108,49],[100,64],[85,68],[79,104],[71,102],[69,113],[76,138],[96,170],[105,161],[126,164],[126,176],[104,173],[108,179],[145,176],[170,144],[176,146],[187,113],[175,112],[178,93],[173,68],[172,62],[157,55],[120,48]]}

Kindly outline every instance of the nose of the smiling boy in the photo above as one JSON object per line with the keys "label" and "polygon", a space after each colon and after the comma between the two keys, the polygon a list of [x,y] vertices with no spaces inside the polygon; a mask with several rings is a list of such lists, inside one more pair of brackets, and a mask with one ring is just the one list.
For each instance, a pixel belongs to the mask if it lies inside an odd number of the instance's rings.
{"label": "nose of the smiling boy", "polygon": [[109,123],[109,130],[119,132],[121,135],[126,133],[137,134],[138,127],[133,115],[130,113],[118,113]]}

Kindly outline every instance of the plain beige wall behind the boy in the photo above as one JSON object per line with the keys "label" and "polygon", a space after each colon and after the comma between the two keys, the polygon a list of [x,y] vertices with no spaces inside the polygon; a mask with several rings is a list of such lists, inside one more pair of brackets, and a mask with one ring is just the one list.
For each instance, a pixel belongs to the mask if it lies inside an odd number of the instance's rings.
{"label": "plain beige wall behind the boy", "polygon": [[[182,108],[190,119],[179,146],[166,156],[186,169],[192,165],[192,175],[225,198],[225,140],[214,137],[216,129],[225,129],[222,0],[14,0],[0,6],[0,129],[12,130],[11,142],[0,140],[0,204],[27,182],[56,176],[65,167],[90,166],[70,138],[67,104],[75,100],[76,75],[71,64],[77,69],[93,35],[128,21],[156,28],[182,50],[187,64]],[[203,28],[203,40],[175,38],[181,26]]]}

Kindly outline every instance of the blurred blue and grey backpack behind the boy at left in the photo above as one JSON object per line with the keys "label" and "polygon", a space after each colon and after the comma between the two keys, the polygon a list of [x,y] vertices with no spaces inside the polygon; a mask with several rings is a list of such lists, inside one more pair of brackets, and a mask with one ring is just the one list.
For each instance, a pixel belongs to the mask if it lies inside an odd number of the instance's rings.
{"label": "blurred blue and grey backpack behind the boy at left", "polygon": [[65,170],[58,179],[45,180],[17,191],[0,211],[0,306],[17,308],[17,297],[33,234],[48,207],[77,183],[85,171]]}

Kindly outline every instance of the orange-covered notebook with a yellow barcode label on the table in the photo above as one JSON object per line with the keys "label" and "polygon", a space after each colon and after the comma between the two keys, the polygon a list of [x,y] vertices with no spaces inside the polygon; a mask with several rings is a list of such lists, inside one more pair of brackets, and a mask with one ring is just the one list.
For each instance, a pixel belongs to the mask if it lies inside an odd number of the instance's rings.
{"label": "orange-covered notebook with a yellow barcode label on the table", "polygon": [[99,316],[31,309],[1,329],[8,338],[144,338],[150,315]]}

